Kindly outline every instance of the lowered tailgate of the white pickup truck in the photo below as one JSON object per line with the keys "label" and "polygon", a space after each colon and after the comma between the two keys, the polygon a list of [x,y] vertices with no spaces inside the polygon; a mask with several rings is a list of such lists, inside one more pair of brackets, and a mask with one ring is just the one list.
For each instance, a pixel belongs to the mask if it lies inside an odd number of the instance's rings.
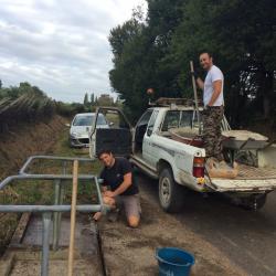
{"label": "lowered tailgate of the white pickup truck", "polygon": [[276,169],[240,164],[235,179],[212,178],[211,182],[213,188],[220,192],[274,190],[276,189]]}

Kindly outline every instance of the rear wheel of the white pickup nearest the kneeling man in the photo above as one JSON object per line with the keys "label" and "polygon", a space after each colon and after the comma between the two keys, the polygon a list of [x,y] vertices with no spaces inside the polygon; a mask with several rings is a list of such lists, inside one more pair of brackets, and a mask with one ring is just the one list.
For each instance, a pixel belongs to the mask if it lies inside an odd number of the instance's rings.
{"label": "rear wheel of the white pickup nearest the kneeling man", "polygon": [[183,187],[174,181],[169,168],[162,169],[159,176],[159,202],[169,213],[178,212],[183,206]]}

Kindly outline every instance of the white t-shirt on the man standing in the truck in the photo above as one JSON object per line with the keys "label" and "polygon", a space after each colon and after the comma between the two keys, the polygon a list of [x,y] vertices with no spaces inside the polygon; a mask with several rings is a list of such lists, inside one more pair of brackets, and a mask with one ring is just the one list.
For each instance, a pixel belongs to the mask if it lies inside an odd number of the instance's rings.
{"label": "white t-shirt on the man standing in the truck", "polygon": [[219,67],[215,65],[212,65],[212,67],[209,70],[205,81],[204,81],[204,92],[203,92],[203,104],[206,106],[212,97],[213,94],[213,82],[215,81],[222,81],[222,91],[214,102],[213,106],[221,106],[224,105],[224,99],[223,99],[223,83],[224,83],[224,77]]}

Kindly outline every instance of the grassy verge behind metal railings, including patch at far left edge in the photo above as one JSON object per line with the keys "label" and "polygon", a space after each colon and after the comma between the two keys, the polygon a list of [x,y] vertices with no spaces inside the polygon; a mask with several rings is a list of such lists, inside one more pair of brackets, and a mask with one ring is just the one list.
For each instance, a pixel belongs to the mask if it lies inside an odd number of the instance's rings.
{"label": "grassy verge behind metal railings, including patch at far left edge", "polygon": [[[54,148],[51,149],[53,156],[65,157],[88,157],[88,149],[72,149],[68,147],[68,129],[61,131],[61,136]],[[72,173],[72,162],[66,166],[66,173]],[[79,173],[98,174],[102,164],[98,161],[81,163]],[[62,163],[59,161],[36,161],[32,166],[33,173],[63,173]],[[71,204],[72,180],[67,181],[63,203]],[[97,202],[95,185],[92,181],[79,181],[77,203],[95,204]],[[51,181],[15,181],[0,191],[0,204],[53,204],[54,184]],[[7,244],[18,225],[19,213],[0,213],[0,255],[4,252]]]}

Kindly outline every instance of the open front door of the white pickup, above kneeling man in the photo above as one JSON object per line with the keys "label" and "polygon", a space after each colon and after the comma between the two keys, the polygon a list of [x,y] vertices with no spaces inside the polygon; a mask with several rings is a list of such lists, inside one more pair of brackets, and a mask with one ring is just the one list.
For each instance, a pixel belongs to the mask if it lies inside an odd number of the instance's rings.
{"label": "open front door of the white pickup, above kneeling man", "polygon": [[[107,121],[105,127],[98,126],[103,116]],[[115,107],[98,107],[94,118],[89,135],[91,158],[97,157],[103,149],[109,149],[115,156],[128,157],[131,153],[132,129],[121,110]]]}

